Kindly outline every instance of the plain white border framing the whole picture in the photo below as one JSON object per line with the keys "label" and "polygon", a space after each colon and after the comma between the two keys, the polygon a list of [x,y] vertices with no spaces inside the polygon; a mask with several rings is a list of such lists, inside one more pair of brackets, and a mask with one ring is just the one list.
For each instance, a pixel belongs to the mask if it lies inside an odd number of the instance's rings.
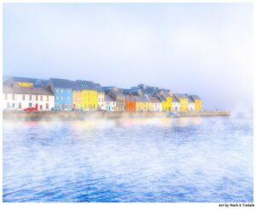
{"label": "plain white border framing the whole picture", "polygon": [[[24,1],[17,1],[17,0],[1,0],[1,14],[0,14],[0,20],[1,20],[1,40],[2,42],[0,43],[0,48],[1,50],[1,78],[0,82],[3,83],[3,3],[253,3],[253,35],[254,35],[254,40],[253,40],[253,55],[254,55],[254,66],[253,69],[255,69],[255,58],[256,58],[256,42],[255,42],[255,34],[256,34],[256,29],[255,29],[255,24],[256,24],[256,3],[254,0],[130,0],[130,1],[119,1],[119,0],[24,0]],[[256,92],[256,73],[253,71],[253,107],[256,105],[256,97],[255,97],[255,92]],[[1,93],[3,93],[3,86],[0,85]],[[0,104],[0,110],[2,110],[2,104]],[[1,131],[0,131],[0,136],[1,136],[1,152],[3,151],[3,113],[1,111],[1,119],[0,119],[0,124],[1,124]],[[253,133],[255,132],[255,126],[256,124],[256,112],[253,110]],[[255,135],[253,134],[253,159],[256,158],[255,155]],[[255,163],[255,161],[254,161]],[[253,163],[253,165],[254,165]],[[51,208],[69,208],[69,207],[78,207],[78,208],[84,208],[84,207],[90,207],[90,208],[131,208],[132,207],[137,207],[137,208],[153,208],[153,207],[161,207],[161,208],[170,208],[170,207],[175,207],[175,208],[217,208],[219,203],[3,203],[3,155],[1,155],[1,205],[4,206],[5,208],[13,208],[13,207],[19,207],[19,208],[44,208],[45,206],[51,207]],[[253,200],[255,201],[255,166],[253,167]],[[47,204],[47,205],[45,205]],[[86,204],[86,205],[84,205]],[[228,203],[226,203],[228,204]],[[218,207],[218,208],[224,208],[224,207]],[[233,207],[235,208],[235,207]]]}

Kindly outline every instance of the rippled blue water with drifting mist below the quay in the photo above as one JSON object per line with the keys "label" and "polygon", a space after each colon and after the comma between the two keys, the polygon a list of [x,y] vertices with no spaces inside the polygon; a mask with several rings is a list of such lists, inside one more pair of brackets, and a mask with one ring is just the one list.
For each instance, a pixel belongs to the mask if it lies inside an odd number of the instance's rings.
{"label": "rippled blue water with drifting mist below the quay", "polygon": [[252,202],[253,120],[3,122],[5,202]]}

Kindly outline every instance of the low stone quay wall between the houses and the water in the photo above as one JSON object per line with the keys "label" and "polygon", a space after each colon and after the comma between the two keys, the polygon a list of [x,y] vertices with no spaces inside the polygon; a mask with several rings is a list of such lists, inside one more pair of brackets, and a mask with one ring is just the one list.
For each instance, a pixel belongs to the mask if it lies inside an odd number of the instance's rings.
{"label": "low stone quay wall between the houses and the water", "polygon": [[86,119],[119,119],[119,118],[181,118],[231,116],[230,111],[200,111],[179,112],[170,116],[169,112],[110,112],[110,111],[15,111],[3,110],[3,120],[6,121],[83,121]]}

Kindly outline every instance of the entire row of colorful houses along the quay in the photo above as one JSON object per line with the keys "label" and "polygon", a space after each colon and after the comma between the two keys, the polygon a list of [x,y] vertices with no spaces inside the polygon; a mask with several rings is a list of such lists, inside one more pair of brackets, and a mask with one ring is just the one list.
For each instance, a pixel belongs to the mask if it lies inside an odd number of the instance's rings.
{"label": "entire row of colorful houses along the quay", "polygon": [[200,111],[197,95],[140,84],[128,89],[83,80],[9,76],[3,82],[3,110]]}

